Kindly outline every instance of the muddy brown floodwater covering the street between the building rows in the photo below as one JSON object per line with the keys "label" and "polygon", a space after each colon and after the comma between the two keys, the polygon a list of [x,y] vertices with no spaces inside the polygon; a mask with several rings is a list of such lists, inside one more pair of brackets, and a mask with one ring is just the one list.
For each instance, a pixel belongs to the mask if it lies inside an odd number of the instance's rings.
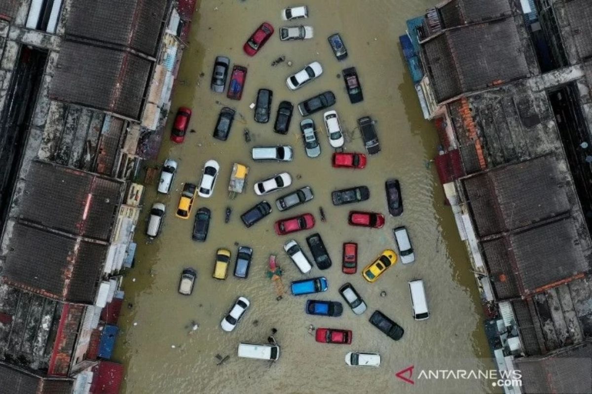
{"label": "muddy brown floodwater covering the street between the building rows", "polygon": [[[443,204],[442,188],[429,160],[436,152],[437,136],[431,123],[422,118],[413,83],[401,55],[398,35],[405,21],[420,15],[434,0],[339,0],[308,2],[310,18],[283,22],[282,8],[290,1],[202,0],[194,16],[189,48],[182,61],[176,85],[173,109],[189,106],[193,116],[185,143],[168,141],[170,122],[165,132],[166,141],[160,151],[159,162],[167,157],[178,160],[179,172],[169,197],[156,194],[156,185],[147,187],[143,218],[153,201],[166,204],[168,215],[162,233],[152,243],[143,235],[140,222],[136,235],[139,243],[136,265],[124,281],[126,304],[120,326],[115,359],[126,366],[123,393],[478,393],[491,388],[481,380],[417,381],[419,369],[444,369],[464,363],[472,369],[490,367],[489,351],[482,328],[481,306],[466,257],[459,240],[451,210]],[[298,2],[296,2],[298,3]],[[262,21],[271,22],[276,32],[255,57],[247,57],[242,45]],[[306,24],[314,27],[314,38],[306,41],[280,41],[282,25]],[[349,51],[345,61],[334,58],[327,37],[340,32]],[[248,67],[246,88],[241,101],[210,91],[210,76],[214,58],[228,56],[231,64]],[[271,62],[285,55],[292,61],[277,67]],[[291,92],[285,85],[289,74],[311,61],[320,61],[323,75],[307,86]],[[340,76],[345,67],[355,66],[363,87],[364,101],[350,104]],[[253,121],[250,103],[260,88],[274,92],[271,122]],[[303,119],[295,109],[288,135],[272,131],[278,103],[289,100],[296,104],[324,90],[332,90],[337,98],[334,109],[342,126],[353,131],[353,139],[346,142],[346,151],[364,152],[356,119],[371,115],[377,120],[382,146],[380,154],[369,157],[365,170],[340,170],[330,165],[329,142],[322,123],[322,112],[312,116],[320,128],[322,154],[307,158],[300,139],[299,123]],[[230,138],[226,142],[212,138],[213,128],[222,106],[237,110]],[[172,119],[173,116],[170,116]],[[246,144],[243,128],[251,131],[252,142]],[[293,162],[255,163],[250,159],[250,148],[256,145],[289,144],[295,151]],[[197,183],[201,168],[208,159],[216,159],[221,174],[212,198],[197,198],[192,216],[199,207],[213,213],[207,242],[191,240],[193,217],[175,217],[176,204],[182,184]],[[227,185],[233,162],[249,165],[249,184],[246,191],[234,200],[227,198]],[[281,214],[276,209],[270,216],[246,229],[240,214],[262,200],[253,192],[253,184],[261,178],[288,171],[294,178],[292,187],[310,185],[314,200]],[[403,216],[388,216],[384,181],[395,177],[403,189]],[[368,185],[371,198],[363,203],[334,207],[330,193],[336,188]],[[284,190],[284,193],[286,190]],[[266,197],[270,203],[282,192]],[[224,223],[224,210],[231,206],[230,223]],[[327,222],[318,217],[322,206]],[[350,209],[380,211],[387,216],[382,229],[348,226]],[[284,253],[282,245],[289,236],[275,235],[273,224],[281,217],[310,212],[317,219],[313,230],[296,233],[296,239],[308,253],[305,237],[319,232],[323,237],[333,266],[327,271],[314,268],[301,275]],[[398,263],[374,284],[366,283],[360,273],[345,275],[340,270],[342,243],[353,241],[359,245],[359,269],[382,250],[394,248],[392,228],[407,226],[417,260],[403,266]],[[232,275],[237,244],[254,250],[248,279]],[[231,250],[232,265],[229,278],[212,278],[214,253],[217,248]],[[286,295],[276,301],[274,286],[266,277],[268,256],[275,253],[284,269],[284,284],[305,276],[326,276],[329,291],[312,297]],[[181,270],[191,266],[198,271],[198,279],[191,297],[177,292]],[[407,281],[422,278],[426,284],[431,316],[426,321],[414,321]],[[368,311],[354,315],[344,304],[339,318],[314,317],[304,313],[305,301],[326,299],[343,302],[337,289],[352,282],[368,304]],[[387,293],[381,297],[381,292]],[[251,301],[250,310],[236,330],[225,333],[220,320],[243,295]],[[400,341],[393,341],[369,324],[368,318],[376,309],[397,321],[405,329]],[[191,334],[191,321],[199,324]],[[258,321],[258,324],[255,324]],[[137,324],[136,324],[137,323]],[[134,325],[135,324],[135,325]],[[318,344],[308,334],[310,324],[316,327],[348,328],[353,331],[351,346]],[[239,359],[236,356],[240,341],[265,343],[271,328],[281,346],[281,357],[273,365],[259,360]],[[173,347],[174,346],[174,347]],[[382,355],[382,365],[376,369],[346,366],[348,351],[375,351]],[[216,354],[230,355],[222,366],[217,366]],[[395,373],[414,365],[415,385],[405,383]]]}

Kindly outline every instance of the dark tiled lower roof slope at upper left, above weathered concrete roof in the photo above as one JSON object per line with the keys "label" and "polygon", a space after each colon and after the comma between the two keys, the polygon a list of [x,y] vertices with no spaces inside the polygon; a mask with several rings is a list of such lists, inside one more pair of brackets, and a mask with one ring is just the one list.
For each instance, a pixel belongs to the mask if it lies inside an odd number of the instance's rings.
{"label": "dark tiled lower roof slope at upper left, above weathered concrete roof", "polygon": [[129,51],[64,41],[50,96],[139,120],[152,66]]}

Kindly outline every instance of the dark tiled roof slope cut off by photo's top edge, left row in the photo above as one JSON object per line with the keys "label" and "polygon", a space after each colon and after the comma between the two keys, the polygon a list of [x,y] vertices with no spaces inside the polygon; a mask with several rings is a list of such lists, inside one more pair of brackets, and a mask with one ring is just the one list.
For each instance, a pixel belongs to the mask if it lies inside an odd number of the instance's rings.
{"label": "dark tiled roof slope cut off by photo's top edge, left row", "polygon": [[120,45],[154,57],[167,3],[168,0],[76,0],[70,7],[66,35]]}

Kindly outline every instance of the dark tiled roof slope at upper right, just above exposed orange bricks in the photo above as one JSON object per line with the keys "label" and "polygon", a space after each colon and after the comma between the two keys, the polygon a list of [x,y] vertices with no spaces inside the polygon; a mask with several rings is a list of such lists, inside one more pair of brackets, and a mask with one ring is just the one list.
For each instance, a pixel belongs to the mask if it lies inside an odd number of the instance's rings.
{"label": "dark tiled roof slope at upper right, just above exposed orange bricks", "polygon": [[514,18],[446,30],[422,48],[439,102],[529,76]]}

